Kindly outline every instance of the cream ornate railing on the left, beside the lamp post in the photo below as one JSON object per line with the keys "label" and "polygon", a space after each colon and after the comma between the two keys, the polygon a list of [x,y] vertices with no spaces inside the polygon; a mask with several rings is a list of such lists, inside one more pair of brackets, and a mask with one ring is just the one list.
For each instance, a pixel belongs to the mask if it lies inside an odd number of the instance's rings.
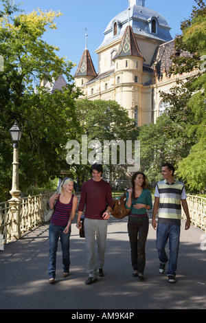
{"label": "cream ornate railing on the left, beside the lamp post", "polygon": [[19,201],[0,203],[0,249],[2,244],[21,238],[44,221],[47,201],[53,193],[29,196]]}

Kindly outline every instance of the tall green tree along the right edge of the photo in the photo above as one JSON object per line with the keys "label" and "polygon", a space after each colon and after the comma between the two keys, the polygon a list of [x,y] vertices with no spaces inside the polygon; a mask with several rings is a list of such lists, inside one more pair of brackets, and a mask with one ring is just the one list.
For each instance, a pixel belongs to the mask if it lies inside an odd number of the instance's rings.
{"label": "tall green tree along the right edge of the photo", "polygon": [[176,50],[183,49],[190,55],[174,57],[171,72],[182,74],[196,69],[197,74],[161,96],[170,102],[170,120],[182,126],[187,146],[191,146],[188,155],[179,160],[179,177],[185,179],[190,190],[199,192],[205,189],[206,182],[206,5],[203,0],[195,1],[197,7],[181,23],[182,34],[175,40]]}

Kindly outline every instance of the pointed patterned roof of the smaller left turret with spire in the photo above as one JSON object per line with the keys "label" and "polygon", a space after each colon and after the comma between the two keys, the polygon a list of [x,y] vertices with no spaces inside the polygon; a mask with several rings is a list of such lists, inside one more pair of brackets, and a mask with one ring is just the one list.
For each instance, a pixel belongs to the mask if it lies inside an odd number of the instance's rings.
{"label": "pointed patterned roof of the smaller left turret with spire", "polygon": [[76,76],[92,76],[94,78],[97,76],[95,68],[93,66],[93,61],[87,48],[84,49],[80,64],[78,65],[76,74],[74,74],[73,77],[75,78]]}

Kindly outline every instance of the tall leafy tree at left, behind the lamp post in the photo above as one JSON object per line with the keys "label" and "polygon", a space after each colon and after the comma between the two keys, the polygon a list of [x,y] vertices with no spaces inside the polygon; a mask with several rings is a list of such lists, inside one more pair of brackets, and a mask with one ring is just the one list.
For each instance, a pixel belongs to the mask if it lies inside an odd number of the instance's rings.
{"label": "tall leafy tree at left, behind the lamp post", "polygon": [[[19,15],[14,16],[14,13]],[[0,55],[0,186],[8,198],[11,188],[12,144],[9,129],[15,120],[23,129],[20,143],[20,188],[45,185],[65,168],[65,145],[76,136],[78,122],[74,100],[79,90],[69,85],[73,63],[60,58],[58,48],[43,41],[60,12],[22,14],[19,5],[1,0]],[[64,75],[68,85],[51,93],[42,80],[54,82]],[[67,165],[68,166],[68,165]],[[7,193],[7,194],[6,194]]]}

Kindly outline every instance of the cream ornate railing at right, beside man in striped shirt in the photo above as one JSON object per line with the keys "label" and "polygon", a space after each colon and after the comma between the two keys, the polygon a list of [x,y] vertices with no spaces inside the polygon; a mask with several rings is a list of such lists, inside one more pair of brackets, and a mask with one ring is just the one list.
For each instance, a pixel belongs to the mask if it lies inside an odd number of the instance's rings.
{"label": "cream ornate railing at right, beside man in striped shirt", "polygon": [[[206,232],[206,199],[187,194],[187,204],[190,212],[191,222]],[[184,212],[182,212],[184,214]],[[185,214],[183,219],[186,219]]]}

